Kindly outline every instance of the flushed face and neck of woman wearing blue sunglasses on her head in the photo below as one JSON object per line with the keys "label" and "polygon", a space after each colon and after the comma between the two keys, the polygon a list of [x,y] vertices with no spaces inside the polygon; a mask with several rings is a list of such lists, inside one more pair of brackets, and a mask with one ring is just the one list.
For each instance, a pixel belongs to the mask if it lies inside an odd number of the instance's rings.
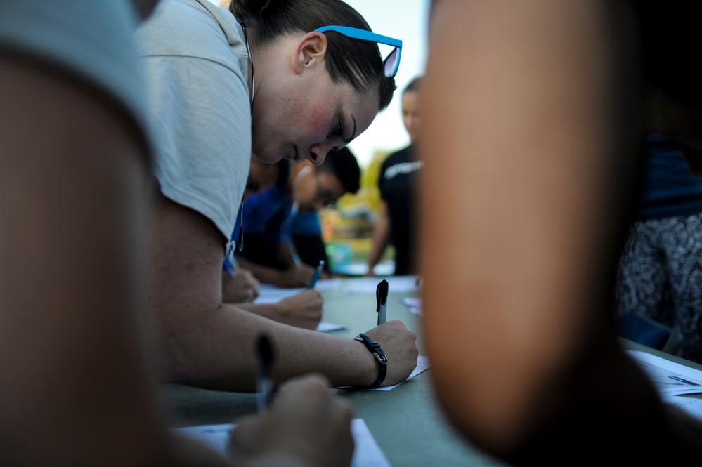
{"label": "flushed face and neck of woman wearing blue sunglasses on her head", "polygon": [[268,77],[254,99],[253,152],[261,161],[309,159],[323,162],[332,147],[363,133],[378,113],[378,91],[359,94],[351,84],[334,83],[323,66]]}

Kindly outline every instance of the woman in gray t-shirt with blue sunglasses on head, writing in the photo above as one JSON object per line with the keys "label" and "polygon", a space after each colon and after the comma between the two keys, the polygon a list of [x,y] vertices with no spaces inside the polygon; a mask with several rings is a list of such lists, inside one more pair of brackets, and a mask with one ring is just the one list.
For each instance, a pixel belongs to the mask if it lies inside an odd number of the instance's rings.
{"label": "woman in gray t-shirt with blue sunglasses on head, writing", "polygon": [[[403,381],[417,348],[399,321],[366,333],[388,356],[382,379],[363,343],[264,319],[221,296],[250,154],[321,164],[356,138],[392,98],[400,41],[370,32],[339,0],[165,0],[138,40],[159,143],[150,299],[164,376],[252,390],[252,349],[266,331],[279,350],[277,381],[308,371],[334,386]],[[396,47],[385,60],[378,42]]]}

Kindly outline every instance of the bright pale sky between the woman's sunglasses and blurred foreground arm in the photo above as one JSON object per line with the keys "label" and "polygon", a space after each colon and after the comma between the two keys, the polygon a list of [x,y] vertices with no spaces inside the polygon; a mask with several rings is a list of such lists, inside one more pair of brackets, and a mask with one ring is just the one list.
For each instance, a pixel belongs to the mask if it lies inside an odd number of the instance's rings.
{"label": "bright pale sky between the woman's sunglasses and blurred foreground arm", "polygon": [[[217,0],[210,0],[218,4]],[[394,151],[410,144],[402,124],[401,93],[412,79],[424,73],[427,60],[429,0],[345,0],[360,13],[377,34],[402,41],[397,91],[389,107],[378,114],[368,130],[349,144],[361,167],[367,167],[377,151]],[[383,56],[389,48],[380,46]]]}

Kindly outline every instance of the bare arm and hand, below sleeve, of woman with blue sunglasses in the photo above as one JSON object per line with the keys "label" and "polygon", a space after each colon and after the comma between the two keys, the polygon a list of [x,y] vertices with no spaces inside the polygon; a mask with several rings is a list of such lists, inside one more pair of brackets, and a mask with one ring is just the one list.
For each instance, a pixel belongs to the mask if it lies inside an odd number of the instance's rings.
{"label": "bare arm and hand, below sleeve, of woman with blue sunglasses", "polygon": [[[279,349],[277,381],[308,372],[334,386],[368,385],[377,365],[362,343],[287,326],[222,303],[224,239],[202,214],[160,196],[150,218],[150,298],[168,379],[226,390],[254,390],[256,338],[267,332]],[[243,266],[243,264],[242,264]],[[398,321],[368,331],[387,347],[387,384],[417,363],[415,334]]]}

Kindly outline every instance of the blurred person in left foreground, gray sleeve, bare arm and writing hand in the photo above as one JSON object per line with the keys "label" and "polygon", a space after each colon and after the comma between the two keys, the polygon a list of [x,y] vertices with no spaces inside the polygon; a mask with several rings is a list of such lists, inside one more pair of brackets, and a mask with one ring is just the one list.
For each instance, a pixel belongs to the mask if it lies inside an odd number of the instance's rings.
{"label": "blurred person in left foreground, gray sleeve, bare arm and writing hand", "polygon": [[[166,428],[144,287],[155,144],[133,39],[154,2],[134,3],[0,2],[0,465],[348,466],[351,408],[319,376],[240,421],[226,459]],[[38,284],[47,258],[59,272]]]}

